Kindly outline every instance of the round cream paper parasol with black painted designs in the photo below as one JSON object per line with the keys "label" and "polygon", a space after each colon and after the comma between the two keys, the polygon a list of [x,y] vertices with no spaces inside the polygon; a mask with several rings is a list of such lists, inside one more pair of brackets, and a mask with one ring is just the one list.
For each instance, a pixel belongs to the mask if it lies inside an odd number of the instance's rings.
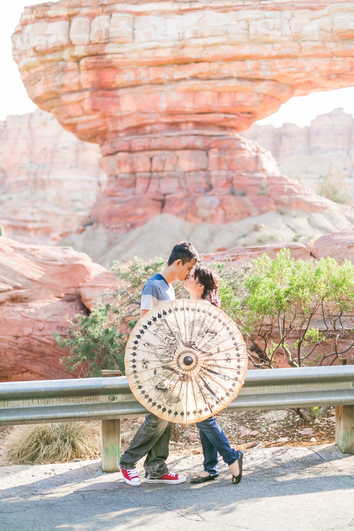
{"label": "round cream paper parasol with black painted designs", "polygon": [[135,325],[125,349],[133,395],[171,422],[191,423],[225,408],[247,371],[236,324],[206,301],[163,301]]}

